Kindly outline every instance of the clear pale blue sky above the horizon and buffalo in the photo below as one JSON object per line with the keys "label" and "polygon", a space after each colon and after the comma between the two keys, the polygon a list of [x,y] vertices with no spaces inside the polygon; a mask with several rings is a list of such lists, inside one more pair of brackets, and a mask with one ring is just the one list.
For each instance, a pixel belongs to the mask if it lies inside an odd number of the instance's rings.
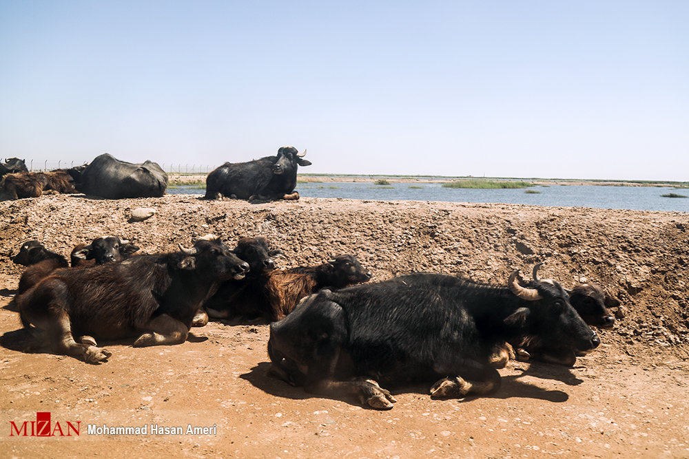
{"label": "clear pale blue sky above the horizon and buffalo", "polygon": [[0,157],[686,181],[688,23],[683,0],[0,0]]}

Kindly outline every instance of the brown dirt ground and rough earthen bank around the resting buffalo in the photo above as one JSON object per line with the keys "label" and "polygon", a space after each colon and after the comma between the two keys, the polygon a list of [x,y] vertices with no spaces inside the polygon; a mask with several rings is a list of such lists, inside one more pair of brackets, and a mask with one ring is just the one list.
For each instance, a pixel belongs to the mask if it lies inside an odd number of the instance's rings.
{"label": "brown dirt ground and rough earthen bank around the resting buffalo", "polygon": [[[156,216],[128,223],[136,207]],[[356,255],[374,280],[418,270],[504,284],[513,268],[566,286],[588,279],[618,297],[615,329],[573,369],[510,363],[491,397],[432,401],[428,387],[397,392],[389,412],[317,398],[267,378],[267,328],[210,323],[177,346],[116,343],[103,365],[25,354],[17,313],[0,310],[3,456],[234,457],[689,457],[689,215],[506,204],[319,200],[249,204],[169,195],[89,200],[78,195],[0,202],[0,298],[26,239],[65,255],[98,235],[142,251],[196,236],[265,235],[282,267]],[[48,217],[49,216],[49,217]],[[10,438],[10,420],[81,421],[78,438]],[[96,436],[86,425],[148,426]],[[216,434],[154,435],[151,425],[216,426]],[[141,449],[144,443],[145,450]]]}

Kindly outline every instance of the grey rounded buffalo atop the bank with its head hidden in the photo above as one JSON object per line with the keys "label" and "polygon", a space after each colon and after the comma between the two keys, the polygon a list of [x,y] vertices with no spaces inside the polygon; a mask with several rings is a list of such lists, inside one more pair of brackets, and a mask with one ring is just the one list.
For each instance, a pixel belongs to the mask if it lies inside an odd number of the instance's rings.
{"label": "grey rounded buffalo atop the bank with its head hidden", "polygon": [[156,162],[132,164],[104,153],[81,171],[77,189],[107,199],[158,198],[167,189],[167,174]]}

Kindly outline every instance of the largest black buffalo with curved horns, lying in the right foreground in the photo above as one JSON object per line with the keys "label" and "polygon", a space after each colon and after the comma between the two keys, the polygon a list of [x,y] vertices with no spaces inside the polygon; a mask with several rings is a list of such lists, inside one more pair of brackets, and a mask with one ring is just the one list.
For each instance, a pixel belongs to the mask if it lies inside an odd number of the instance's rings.
{"label": "largest black buffalo with curved horns, lying in the right foreground", "polygon": [[321,290],[271,324],[271,375],[313,394],[389,409],[395,398],[377,381],[435,381],[434,398],[495,391],[501,381],[491,356],[505,341],[561,341],[582,351],[599,345],[559,284],[525,288],[516,277],[509,288],[425,273]]}

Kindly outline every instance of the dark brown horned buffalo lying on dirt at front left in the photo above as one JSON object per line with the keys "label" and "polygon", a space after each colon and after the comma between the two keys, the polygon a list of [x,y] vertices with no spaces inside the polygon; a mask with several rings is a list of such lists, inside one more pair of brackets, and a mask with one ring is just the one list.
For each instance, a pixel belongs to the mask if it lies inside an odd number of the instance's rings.
{"label": "dark brown horned buffalo lying on dirt at front left", "polygon": [[182,343],[216,283],[241,279],[249,266],[212,235],[180,250],[55,270],[16,298],[21,323],[45,332],[55,352],[87,363],[112,355],[96,339],[137,337],[139,347]]}

